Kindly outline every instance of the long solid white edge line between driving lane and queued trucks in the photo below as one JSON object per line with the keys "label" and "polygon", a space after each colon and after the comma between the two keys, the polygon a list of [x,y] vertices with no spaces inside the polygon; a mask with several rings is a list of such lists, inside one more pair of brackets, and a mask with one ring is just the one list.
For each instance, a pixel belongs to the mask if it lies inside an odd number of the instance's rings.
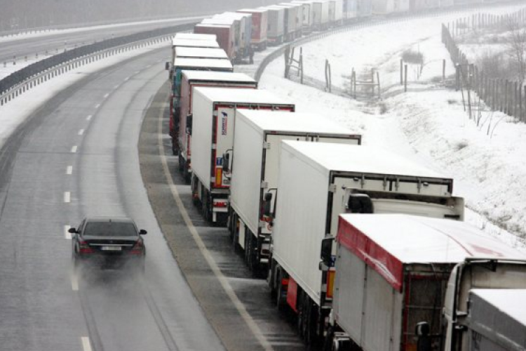
{"label": "long solid white edge line between driving lane and queued trucks", "polygon": [[252,334],[257,338],[259,341],[259,344],[262,345],[263,349],[266,351],[272,351],[274,348],[269,343],[269,340],[264,336],[261,329],[259,329],[259,326],[256,324],[254,319],[252,319],[252,316],[248,313],[248,311],[245,308],[245,305],[241,303],[241,300],[239,300],[238,296],[236,295],[236,292],[234,289],[232,289],[232,286],[228,282],[227,278],[224,277],[223,273],[220,270],[220,267],[217,266],[217,263],[215,263],[214,258],[210,254],[210,251],[206,248],[203,239],[201,239],[201,236],[196,230],[196,227],[194,227],[194,223],[191,222],[190,216],[188,215],[187,209],[184,208],[184,205],[182,204],[181,197],[179,196],[179,191],[177,190],[177,187],[173,183],[173,178],[170,174],[170,168],[168,168],[168,161],[166,161],[166,156],[164,152],[163,147],[163,110],[161,109],[161,112],[159,112],[159,124],[158,124],[158,134],[159,135],[159,154],[161,154],[161,161],[163,164],[163,171],[166,177],[166,180],[168,181],[168,186],[170,187],[170,191],[172,192],[173,199],[175,200],[175,203],[177,204],[177,208],[179,208],[179,211],[181,213],[181,216],[184,220],[184,224],[187,225],[191,236],[194,238],[194,241],[196,241],[196,244],[199,248],[199,251],[201,251],[201,254],[205,258],[206,262],[210,266],[210,269],[213,271],[215,277],[217,277],[217,280],[219,280],[223,290],[225,293],[227,293],[227,296],[229,296],[231,302],[236,307],[236,310],[238,310],[239,314],[241,314],[241,317],[245,320],[245,323],[247,324],[250,331],[252,331]]}

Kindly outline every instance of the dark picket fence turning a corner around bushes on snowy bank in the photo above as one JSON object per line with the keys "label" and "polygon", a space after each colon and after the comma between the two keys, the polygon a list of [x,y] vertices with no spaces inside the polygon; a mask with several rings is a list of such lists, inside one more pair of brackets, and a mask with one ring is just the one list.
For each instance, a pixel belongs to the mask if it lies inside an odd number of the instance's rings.
{"label": "dark picket fence turning a corner around bushes on snowy bank", "polygon": [[[487,107],[526,121],[526,86],[524,81],[489,77],[461,51],[454,36],[473,32],[478,29],[508,28],[510,23],[518,27],[526,25],[526,8],[507,15],[478,13],[454,22],[442,25],[442,42],[449,51],[451,60],[457,67],[456,86],[478,95]],[[453,33],[453,34],[452,34]],[[471,114],[471,101],[470,114]]]}

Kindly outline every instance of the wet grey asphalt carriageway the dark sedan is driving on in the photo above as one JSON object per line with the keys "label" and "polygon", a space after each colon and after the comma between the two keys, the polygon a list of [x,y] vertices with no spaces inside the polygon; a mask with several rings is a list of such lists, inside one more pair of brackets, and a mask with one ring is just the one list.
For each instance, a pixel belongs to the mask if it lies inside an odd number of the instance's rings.
{"label": "wet grey asphalt carriageway the dark sedan is driving on", "polygon": [[[81,79],[1,150],[2,350],[304,350],[266,282],[252,279],[226,228],[203,221],[175,171],[168,52]],[[86,215],[130,216],[148,230],[144,279],[72,273],[66,231]]]}

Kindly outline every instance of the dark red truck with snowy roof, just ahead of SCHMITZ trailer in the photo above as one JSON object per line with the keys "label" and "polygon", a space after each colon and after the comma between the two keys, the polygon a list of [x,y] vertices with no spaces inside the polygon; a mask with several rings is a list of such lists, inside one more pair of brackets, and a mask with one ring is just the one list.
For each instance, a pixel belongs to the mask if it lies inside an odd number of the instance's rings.
{"label": "dark red truck with snowy roof, just ahead of SCHMITZ trailer", "polygon": [[198,86],[255,89],[257,81],[243,73],[182,71],[180,103],[170,119],[170,135],[173,135],[173,154],[179,157],[179,169],[188,183],[191,179],[191,136],[186,117],[193,113],[192,93]]}

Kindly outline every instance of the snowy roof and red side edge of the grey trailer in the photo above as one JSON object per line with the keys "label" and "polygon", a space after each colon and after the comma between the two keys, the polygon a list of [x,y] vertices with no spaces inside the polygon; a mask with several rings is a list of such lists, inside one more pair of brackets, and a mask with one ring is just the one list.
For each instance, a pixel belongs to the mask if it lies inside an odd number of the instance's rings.
{"label": "snowy roof and red side edge of the grey trailer", "polygon": [[342,214],[337,241],[401,291],[404,265],[466,258],[526,260],[526,254],[471,224],[403,214]]}

